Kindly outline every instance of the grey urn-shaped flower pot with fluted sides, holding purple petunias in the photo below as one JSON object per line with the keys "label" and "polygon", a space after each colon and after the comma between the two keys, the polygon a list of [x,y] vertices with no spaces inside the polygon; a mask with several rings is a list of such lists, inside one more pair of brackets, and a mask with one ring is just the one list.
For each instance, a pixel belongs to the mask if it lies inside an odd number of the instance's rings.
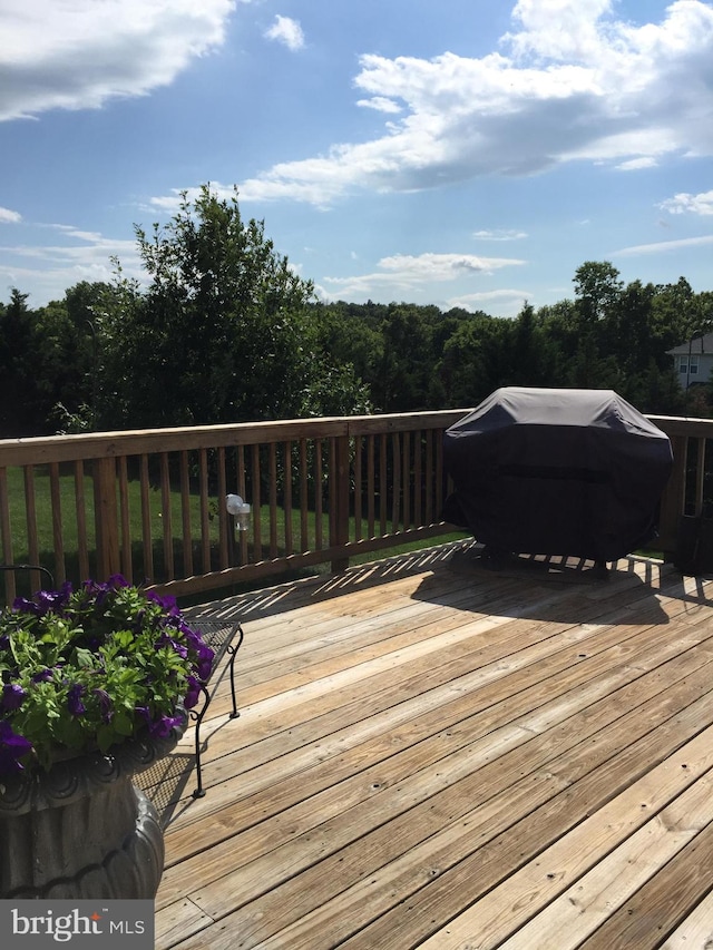
{"label": "grey urn-shaped flower pot with fluted sides, holding purple petunias", "polygon": [[0,899],[153,899],[163,831],[131,776],[179,735],[67,758],[0,785]]}

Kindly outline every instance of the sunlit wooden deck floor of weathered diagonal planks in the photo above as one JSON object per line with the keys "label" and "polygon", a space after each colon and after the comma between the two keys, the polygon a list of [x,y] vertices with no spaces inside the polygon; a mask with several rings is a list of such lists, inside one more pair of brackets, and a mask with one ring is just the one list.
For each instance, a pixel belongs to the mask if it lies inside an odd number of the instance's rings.
{"label": "sunlit wooden deck floor of weathered diagonal planks", "polygon": [[242,716],[206,797],[164,763],[158,950],[713,947],[712,582],[471,558],[192,611],[243,621]]}

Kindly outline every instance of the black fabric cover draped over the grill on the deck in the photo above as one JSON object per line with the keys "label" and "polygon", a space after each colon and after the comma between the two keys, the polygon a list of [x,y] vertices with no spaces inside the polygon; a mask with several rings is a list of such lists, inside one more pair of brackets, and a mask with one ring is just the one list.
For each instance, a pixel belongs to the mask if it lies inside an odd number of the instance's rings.
{"label": "black fabric cover draped over the grill on the deck", "polygon": [[654,536],[668,437],[613,390],[496,390],[443,437],[443,517],[515,554],[624,557]]}

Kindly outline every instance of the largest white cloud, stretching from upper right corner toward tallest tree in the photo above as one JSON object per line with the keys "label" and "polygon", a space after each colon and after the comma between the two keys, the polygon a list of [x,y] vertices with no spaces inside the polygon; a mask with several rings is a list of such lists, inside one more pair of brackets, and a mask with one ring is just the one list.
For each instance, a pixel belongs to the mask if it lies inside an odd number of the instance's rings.
{"label": "largest white cloud, stretching from upper right corner toward tallest tree", "polygon": [[713,155],[713,6],[674,0],[641,27],[617,20],[616,6],[519,0],[516,29],[479,59],[362,56],[358,104],[390,114],[383,135],[275,165],[243,182],[242,198],[329,207],[361,188]]}

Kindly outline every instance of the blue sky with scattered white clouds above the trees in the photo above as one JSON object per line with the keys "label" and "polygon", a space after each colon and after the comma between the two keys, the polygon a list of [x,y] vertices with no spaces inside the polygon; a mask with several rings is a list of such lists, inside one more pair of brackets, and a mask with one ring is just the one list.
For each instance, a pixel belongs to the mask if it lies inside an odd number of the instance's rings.
{"label": "blue sky with scattered white clouds above the trees", "polygon": [[237,185],[324,300],[713,290],[713,3],[0,0],[0,301]]}

